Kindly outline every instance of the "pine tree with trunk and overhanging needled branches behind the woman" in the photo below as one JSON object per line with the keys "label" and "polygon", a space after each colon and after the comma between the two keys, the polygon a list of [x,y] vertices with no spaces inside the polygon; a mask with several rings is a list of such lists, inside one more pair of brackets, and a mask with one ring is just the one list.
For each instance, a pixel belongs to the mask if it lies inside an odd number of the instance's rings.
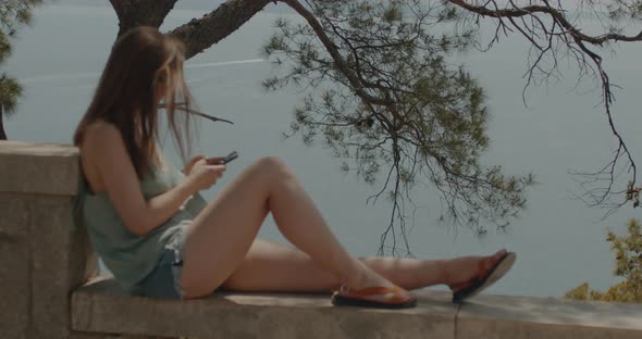
{"label": "pine tree with trunk and overhanging needled branches behind the woman", "polygon": [[[110,0],[119,36],[136,26],[159,27],[180,2]],[[481,161],[490,140],[486,96],[453,58],[472,49],[494,53],[506,36],[530,47],[526,87],[565,77],[559,66],[575,64],[578,81],[600,88],[594,96],[617,149],[603,170],[578,173],[585,202],[613,213],[627,203],[622,184],[638,187],[633,155],[613,123],[613,86],[601,54],[642,41],[642,0],[227,0],[168,34],[185,43],[189,59],[273,3],[298,17],[275,22],[263,47],[275,72],[263,85],[304,93],[288,135],[324,142],[344,160],[343,168],[367,183],[384,178],[368,200],[393,203],[380,254],[409,252],[405,221],[416,206],[413,190],[440,198],[440,219],[480,234],[487,225],[506,229],[524,209],[534,178]],[[587,29],[591,20],[605,32]],[[482,24],[494,34],[481,34]]]}

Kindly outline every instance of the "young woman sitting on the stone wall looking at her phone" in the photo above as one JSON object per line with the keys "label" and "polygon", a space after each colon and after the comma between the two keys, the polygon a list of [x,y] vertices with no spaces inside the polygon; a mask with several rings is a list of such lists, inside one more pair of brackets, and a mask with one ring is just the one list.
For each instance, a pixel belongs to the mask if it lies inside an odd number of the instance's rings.
{"label": "young woman sitting on the stone wall looking at her phone", "polygon": [[[188,149],[189,114],[175,113],[189,105],[183,61],[181,43],[156,28],[124,35],[74,135],[83,223],[126,290],[175,299],[217,289],[334,290],[337,305],[408,307],[416,303],[409,289],[445,284],[458,302],[513,265],[515,253],[505,250],[440,261],[350,256],[274,158],[260,159],[206,203],[198,191],[223,175],[221,159],[196,156],[178,172],[157,146],[162,103],[180,149]],[[268,213],[296,248],[256,238]]]}

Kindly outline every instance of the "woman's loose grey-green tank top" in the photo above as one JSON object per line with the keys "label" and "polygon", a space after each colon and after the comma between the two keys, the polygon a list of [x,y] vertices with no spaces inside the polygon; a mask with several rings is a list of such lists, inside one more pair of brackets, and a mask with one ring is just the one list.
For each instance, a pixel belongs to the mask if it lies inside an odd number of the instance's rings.
{"label": "woman's loose grey-green tank top", "polygon": [[[140,180],[140,190],[145,200],[149,200],[176,186],[184,177],[176,168],[165,165],[150,171]],[[180,236],[206,206],[206,201],[196,193],[169,221],[140,237],[125,227],[107,192],[91,192],[84,176],[79,187],[76,223],[87,227],[94,249],[123,289],[129,292],[153,271],[165,246]]]}

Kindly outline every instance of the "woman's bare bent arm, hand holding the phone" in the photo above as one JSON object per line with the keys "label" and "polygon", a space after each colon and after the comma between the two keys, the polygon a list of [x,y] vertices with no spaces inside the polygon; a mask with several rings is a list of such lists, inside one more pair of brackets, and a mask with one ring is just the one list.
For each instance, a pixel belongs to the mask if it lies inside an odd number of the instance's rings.
{"label": "woman's bare bent arm, hand holding the phone", "polygon": [[98,173],[125,227],[138,236],[166,222],[187,198],[213,185],[225,170],[224,166],[192,166],[185,180],[146,201],[123,138],[113,125],[97,123],[91,126],[86,131],[82,152],[85,166]]}

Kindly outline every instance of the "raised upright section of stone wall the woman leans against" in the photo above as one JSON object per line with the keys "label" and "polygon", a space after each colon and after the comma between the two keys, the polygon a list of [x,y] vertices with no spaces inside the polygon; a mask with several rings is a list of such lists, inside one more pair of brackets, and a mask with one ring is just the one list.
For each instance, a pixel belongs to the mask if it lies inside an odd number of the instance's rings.
{"label": "raised upright section of stone wall the woman leans against", "polygon": [[67,338],[70,293],[96,267],[73,227],[78,151],[0,142],[0,337]]}

